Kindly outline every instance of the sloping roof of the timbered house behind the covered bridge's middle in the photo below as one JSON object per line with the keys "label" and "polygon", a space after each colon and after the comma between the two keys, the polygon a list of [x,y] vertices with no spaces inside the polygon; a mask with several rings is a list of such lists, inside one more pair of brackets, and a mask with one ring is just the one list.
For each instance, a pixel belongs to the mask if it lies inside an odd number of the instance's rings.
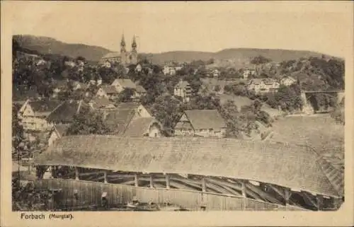
{"label": "sloping roof of the timbered house behind the covered bridge's middle", "polygon": [[224,119],[217,110],[186,110],[193,129],[221,129],[226,127]]}

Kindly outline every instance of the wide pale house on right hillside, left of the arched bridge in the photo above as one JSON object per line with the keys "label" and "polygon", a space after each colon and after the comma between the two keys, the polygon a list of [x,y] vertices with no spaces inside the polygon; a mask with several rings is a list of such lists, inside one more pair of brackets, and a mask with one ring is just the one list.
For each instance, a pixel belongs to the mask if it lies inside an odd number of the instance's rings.
{"label": "wide pale house on right hillside, left of the arched bridge", "polygon": [[278,91],[280,83],[272,78],[253,78],[247,88],[255,93],[272,93]]}

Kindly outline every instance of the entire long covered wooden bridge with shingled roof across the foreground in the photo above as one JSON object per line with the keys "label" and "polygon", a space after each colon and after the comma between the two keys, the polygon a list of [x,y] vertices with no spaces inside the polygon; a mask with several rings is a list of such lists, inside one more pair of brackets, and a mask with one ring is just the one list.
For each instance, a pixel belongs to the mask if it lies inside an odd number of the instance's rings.
{"label": "entire long covered wooden bridge with shingled roof across the foreground", "polygon": [[110,204],[136,197],[190,210],[333,210],[343,202],[336,168],[307,146],[269,141],[64,136],[34,162],[38,185],[87,204],[102,194]]}

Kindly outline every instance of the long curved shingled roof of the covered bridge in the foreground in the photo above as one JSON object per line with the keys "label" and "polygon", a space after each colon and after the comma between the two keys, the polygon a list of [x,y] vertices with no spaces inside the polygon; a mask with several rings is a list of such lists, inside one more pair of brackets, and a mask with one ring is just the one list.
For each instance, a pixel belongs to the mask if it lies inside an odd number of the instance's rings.
{"label": "long curved shingled roof of the covered bridge in the foreground", "polygon": [[210,138],[64,136],[37,165],[235,177],[341,196],[307,146]]}

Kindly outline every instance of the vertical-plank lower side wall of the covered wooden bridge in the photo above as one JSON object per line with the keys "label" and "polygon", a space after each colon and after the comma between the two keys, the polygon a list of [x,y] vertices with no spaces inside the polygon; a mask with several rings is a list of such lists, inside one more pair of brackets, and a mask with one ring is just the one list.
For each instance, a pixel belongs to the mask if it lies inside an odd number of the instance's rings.
{"label": "vertical-plank lower side wall of the covered wooden bridge", "polygon": [[180,189],[135,187],[57,178],[38,180],[35,184],[41,188],[61,188],[65,201],[71,200],[74,197],[74,190],[76,190],[79,200],[85,202],[85,205],[101,204],[101,195],[103,192],[107,192],[108,204],[127,204],[132,201],[133,197],[137,197],[140,202],[169,202],[190,210],[198,210],[200,206],[205,206],[207,210],[217,211],[304,210],[295,206],[281,206],[245,197]]}

